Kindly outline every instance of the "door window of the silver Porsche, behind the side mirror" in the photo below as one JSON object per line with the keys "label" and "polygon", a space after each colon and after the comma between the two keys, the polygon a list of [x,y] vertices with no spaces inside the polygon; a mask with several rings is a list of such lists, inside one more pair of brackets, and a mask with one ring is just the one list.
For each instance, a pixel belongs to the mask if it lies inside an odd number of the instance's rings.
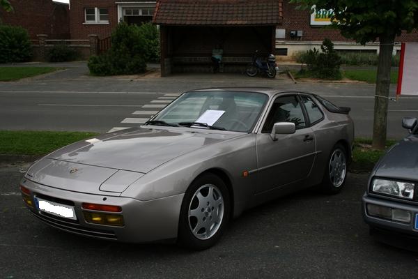
{"label": "door window of the silver Porsche, behind the side mirror", "polygon": [[296,129],[306,127],[302,108],[295,96],[278,97],[274,100],[261,133],[270,133],[276,122],[293,122]]}

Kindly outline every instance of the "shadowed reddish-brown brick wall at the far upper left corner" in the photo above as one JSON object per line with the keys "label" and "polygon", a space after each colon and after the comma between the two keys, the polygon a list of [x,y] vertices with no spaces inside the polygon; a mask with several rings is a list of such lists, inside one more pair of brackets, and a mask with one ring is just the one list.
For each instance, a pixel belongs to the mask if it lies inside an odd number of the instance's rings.
{"label": "shadowed reddish-brown brick wall at the far upper left corner", "polygon": [[14,12],[6,13],[0,8],[3,24],[17,25],[29,31],[35,39],[37,34],[47,34],[48,38],[70,38],[70,17],[68,4],[52,0],[9,0]]}

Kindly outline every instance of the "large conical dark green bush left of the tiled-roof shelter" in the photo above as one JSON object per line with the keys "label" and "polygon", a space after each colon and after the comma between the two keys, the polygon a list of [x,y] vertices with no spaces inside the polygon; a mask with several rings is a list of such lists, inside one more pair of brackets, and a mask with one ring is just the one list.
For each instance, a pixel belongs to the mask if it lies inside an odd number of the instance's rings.
{"label": "large conical dark green bush left of the tiled-roof shelter", "polygon": [[136,25],[121,22],[111,34],[110,49],[91,56],[88,68],[93,75],[133,75],[146,70],[144,35]]}

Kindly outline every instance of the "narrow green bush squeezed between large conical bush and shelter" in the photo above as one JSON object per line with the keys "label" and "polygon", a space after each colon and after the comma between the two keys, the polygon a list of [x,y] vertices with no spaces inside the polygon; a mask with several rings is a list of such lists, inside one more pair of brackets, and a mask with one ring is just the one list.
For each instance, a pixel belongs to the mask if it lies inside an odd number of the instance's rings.
{"label": "narrow green bush squeezed between large conical bush and shelter", "polygon": [[160,62],[160,32],[157,27],[148,22],[139,27],[139,33],[144,37],[146,61]]}

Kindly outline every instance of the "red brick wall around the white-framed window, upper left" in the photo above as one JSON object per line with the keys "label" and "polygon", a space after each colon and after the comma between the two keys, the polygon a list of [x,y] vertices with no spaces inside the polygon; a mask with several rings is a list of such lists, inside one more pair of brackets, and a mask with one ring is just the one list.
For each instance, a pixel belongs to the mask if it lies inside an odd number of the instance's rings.
{"label": "red brick wall around the white-framed window, upper left", "polygon": [[[83,24],[84,8],[107,8],[109,24]],[[118,8],[114,0],[70,0],[70,33],[72,39],[83,40],[88,34],[109,37],[118,24]]]}

